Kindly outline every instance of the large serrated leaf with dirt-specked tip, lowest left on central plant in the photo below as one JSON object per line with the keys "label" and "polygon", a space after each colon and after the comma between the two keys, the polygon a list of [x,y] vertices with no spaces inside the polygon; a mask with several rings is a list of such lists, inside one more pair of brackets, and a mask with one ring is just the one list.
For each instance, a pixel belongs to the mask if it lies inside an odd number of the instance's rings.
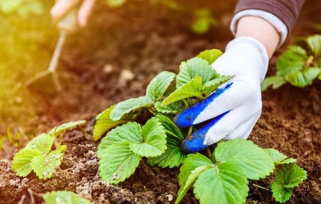
{"label": "large serrated leaf with dirt-specked tip, lowest left on central plant", "polygon": [[98,149],[99,175],[109,184],[118,184],[129,178],[139,165],[142,157],[133,153],[129,148],[130,142],[123,141]]}

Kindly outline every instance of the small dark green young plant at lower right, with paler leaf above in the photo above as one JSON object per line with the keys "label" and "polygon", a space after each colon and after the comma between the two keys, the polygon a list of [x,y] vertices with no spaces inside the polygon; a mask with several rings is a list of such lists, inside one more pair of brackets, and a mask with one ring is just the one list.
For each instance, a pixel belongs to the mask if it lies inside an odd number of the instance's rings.
{"label": "small dark green young plant at lower right, with paler leaf above", "polygon": [[265,149],[265,151],[270,154],[276,166],[281,165],[271,185],[273,197],[278,202],[286,202],[292,195],[292,189],[307,179],[307,172],[297,165],[295,159],[288,159],[274,149]]}

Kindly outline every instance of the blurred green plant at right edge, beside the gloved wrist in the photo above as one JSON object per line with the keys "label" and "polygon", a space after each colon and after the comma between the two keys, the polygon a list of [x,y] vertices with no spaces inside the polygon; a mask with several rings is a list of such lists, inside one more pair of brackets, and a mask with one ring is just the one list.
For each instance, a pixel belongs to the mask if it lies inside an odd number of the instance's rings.
{"label": "blurred green plant at right edge, beside the gloved wrist", "polygon": [[277,89],[286,82],[304,87],[315,78],[321,80],[321,35],[296,39],[279,57],[276,76],[266,77],[261,89]]}

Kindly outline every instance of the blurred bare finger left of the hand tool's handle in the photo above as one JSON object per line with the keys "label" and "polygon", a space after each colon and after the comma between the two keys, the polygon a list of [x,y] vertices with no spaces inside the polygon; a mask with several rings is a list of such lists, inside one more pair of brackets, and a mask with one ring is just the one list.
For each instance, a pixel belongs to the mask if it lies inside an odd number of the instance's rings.
{"label": "blurred bare finger left of the hand tool's handle", "polygon": [[60,0],[50,10],[50,15],[54,21],[58,21],[66,15],[66,13],[75,7],[81,0]]}

